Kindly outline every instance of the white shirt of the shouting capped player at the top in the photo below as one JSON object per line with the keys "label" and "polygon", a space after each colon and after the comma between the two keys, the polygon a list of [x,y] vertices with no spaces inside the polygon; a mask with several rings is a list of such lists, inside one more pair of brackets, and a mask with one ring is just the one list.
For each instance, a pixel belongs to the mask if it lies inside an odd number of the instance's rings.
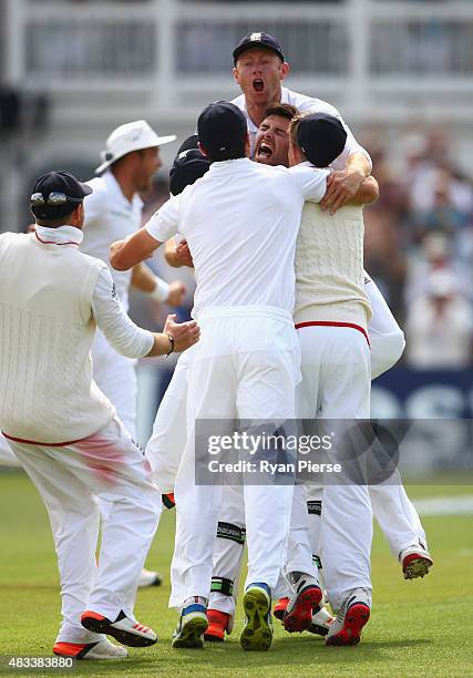
{"label": "white shirt of the shouting capped player at the top", "polygon": [[[255,125],[255,123],[248,115],[248,111],[246,109],[245,94],[240,94],[236,99],[233,99],[232,103],[238,106],[238,109],[240,109],[246,115],[249,137],[251,140],[251,155],[253,155],[254,150],[255,150],[255,138],[258,132],[258,127],[257,125]],[[347,123],[341,117],[340,113],[337,111],[335,106],[327,103],[327,101],[322,101],[321,99],[315,99],[312,96],[306,96],[305,94],[292,92],[291,90],[288,90],[287,88],[281,88],[280,103],[287,103],[292,106],[296,106],[299,113],[306,113],[307,111],[310,111],[311,113],[327,113],[328,115],[335,115],[335,117],[338,117],[341,121],[341,123],[343,124],[343,127],[347,131],[347,142],[345,144],[343,152],[331,163],[330,166],[332,167],[332,170],[345,170],[347,165],[348,156],[351,155],[352,153],[363,153],[371,163],[371,157],[368,151],[363,148],[363,146],[360,146],[360,144],[354,138],[350,127],[347,125]]]}

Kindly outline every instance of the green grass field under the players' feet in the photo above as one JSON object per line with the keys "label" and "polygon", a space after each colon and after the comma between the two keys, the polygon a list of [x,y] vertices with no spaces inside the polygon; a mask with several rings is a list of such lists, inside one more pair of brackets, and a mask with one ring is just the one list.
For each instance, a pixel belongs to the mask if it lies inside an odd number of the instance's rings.
{"label": "green grass field under the players' feet", "polygon": [[[408,487],[413,499],[473,495],[472,485]],[[60,618],[58,573],[45,510],[21,473],[0,473],[1,675],[19,672],[6,656],[49,656]],[[165,512],[147,565],[166,576],[161,588],[140,592],[136,616],[160,635],[157,645],[130,650],[123,661],[82,661],[73,675],[94,676],[473,676],[473,516],[423,520],[435,566],[424,579],[404,582],[383,537],[373,544],[374,605],[358,647],[325,647],[309,634],[289,636],[276,622],[268,653],[244,653],[239,614],[230,639],[204,650],[173,650],[176,623],[167,608],[174,512]],[[69,672],[69,671],[68,671]],[[49,674],[50,675],[50,674]]]}

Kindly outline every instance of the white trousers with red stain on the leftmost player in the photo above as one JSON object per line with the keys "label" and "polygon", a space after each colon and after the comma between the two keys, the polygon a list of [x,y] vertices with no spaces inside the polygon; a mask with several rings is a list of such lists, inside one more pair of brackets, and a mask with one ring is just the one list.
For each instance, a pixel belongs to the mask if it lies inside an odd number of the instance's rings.
{"label": "white trousers with red stain on the leftmost player", "polygon": [[[103,636],[81,626],[85,609],[115,619],[132,616],[137,581],[161,513],[161,496],[142,451],[115,418],[104,429],[65,446],[10,441],[48,508],[61,582],[63,643]],[[97,497],[111,505],[95,549]]]}

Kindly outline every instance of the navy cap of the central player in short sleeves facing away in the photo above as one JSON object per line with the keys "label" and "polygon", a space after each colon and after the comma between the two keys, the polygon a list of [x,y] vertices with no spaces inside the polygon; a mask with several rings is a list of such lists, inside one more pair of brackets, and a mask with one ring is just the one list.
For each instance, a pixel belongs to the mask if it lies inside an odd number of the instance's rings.
{"label": "navy cap of the central player in short sleeves facing away", "polygon": [[228,101],[216,101],[198,116],[197,134],[213,161],[238,157],[247,134],[245,114]]}

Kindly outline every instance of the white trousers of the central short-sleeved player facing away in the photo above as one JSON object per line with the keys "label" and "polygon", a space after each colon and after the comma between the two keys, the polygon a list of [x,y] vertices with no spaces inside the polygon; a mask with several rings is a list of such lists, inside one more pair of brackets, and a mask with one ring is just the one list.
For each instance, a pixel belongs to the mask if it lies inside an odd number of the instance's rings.
{"label": "white trousers of the central short-sleeved player facing away", "polygon": [[[200,341],[188,371],[188,436],[175,484],[176,544],[169,606],[209,597],[215,535],[225,486],[195,479],[196,420],[294,420],[300,349],[288,312],[268,307],[199,314]],[[232,424],[232,422],[230,422]],[[212,432],[210,432],[212,433]],[[244,484],[247,584],[274,588],[286,561],[292,485]]]}

